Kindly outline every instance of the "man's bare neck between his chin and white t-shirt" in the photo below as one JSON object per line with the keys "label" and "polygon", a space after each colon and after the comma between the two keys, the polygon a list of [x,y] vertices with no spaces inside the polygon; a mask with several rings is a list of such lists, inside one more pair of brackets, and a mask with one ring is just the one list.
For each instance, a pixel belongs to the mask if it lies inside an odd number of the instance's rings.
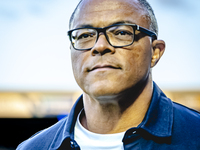
{"label": "man's bare neck between his chin and white t-shirt", "polygon": [[[104,100],[104,102],[84,93],[85,114],[81,118],[81,124],[89,131],[100,134],[124,132],[138,126],[151,101],[152,80],[148,80],[144,87],[140,87],[140,90],[133,90],[124,92],[118,99]],[[110,96],[109,98],[117,97]]]}

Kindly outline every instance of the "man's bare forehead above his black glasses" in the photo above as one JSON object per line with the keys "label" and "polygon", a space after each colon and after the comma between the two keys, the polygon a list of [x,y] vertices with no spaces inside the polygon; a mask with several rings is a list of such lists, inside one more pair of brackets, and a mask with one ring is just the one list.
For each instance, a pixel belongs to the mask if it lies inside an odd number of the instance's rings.
{"label": "man's bare forehead above his black glasses", "polygon": [[137,0],[83,0],[74,15],[72,28],[105,27],[126,21],[148,28],[146,14]]}

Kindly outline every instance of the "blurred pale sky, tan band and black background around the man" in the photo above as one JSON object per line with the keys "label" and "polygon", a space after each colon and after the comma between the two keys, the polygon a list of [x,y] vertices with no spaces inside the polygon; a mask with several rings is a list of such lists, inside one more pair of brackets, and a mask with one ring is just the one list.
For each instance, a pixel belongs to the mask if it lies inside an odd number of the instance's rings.
{"label": "blurred pale sky, tan band and black background around the man", "polygon": [[[0,0],[0,150],[66,116],[80,96],[68,22],[79,0]],[[153,79],[173,100],[200,110],[200,1],[149,0],[166,51]]]}

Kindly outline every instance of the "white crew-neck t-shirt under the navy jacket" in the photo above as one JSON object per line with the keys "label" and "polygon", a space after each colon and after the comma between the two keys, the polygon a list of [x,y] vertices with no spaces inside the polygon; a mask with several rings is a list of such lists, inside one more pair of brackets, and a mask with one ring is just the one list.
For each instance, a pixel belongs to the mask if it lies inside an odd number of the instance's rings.
{"label": "white crew-neck t-shirt under the navy jacket", "polygon": [[74,138],[81,150],[123,150],[122,139],[125,132],[115,134],[97,134],[85,129],[77,117]]}

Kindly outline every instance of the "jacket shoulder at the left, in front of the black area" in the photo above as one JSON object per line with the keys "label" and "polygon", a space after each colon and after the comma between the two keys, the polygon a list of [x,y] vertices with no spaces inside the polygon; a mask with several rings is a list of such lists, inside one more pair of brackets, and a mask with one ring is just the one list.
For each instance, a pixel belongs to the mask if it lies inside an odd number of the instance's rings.
{"label": "jacket shoulder at the left, in front of the black area", "polygon": [[36,150],[36,149],[48,149],[53,143],[54,139],[59,137],[64,131],[64,126],[68,120],[68,117],[58,121],[56,124],[37,132],[26,141],[22,142],[17,150]]}

